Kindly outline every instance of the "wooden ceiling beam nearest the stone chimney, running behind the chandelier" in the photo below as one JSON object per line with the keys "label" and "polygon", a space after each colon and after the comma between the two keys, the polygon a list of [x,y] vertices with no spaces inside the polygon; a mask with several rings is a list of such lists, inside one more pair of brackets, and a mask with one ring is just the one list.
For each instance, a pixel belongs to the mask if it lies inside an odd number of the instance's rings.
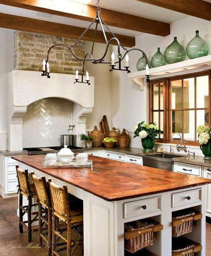
{"label": "wooden ceiling beam nearest the stone chimney, running behind the chandelier", "polygon": [[[43,21],[40,19],[31,19],[6,13],[0,13],[0,27],[74,39],[78,39],[78,37],[85,31],[85,28],[83,27]],[[94,30],[89,29],[82,39],[85,41],[93,41],[93,35]],[[106,33],[106,36],[108,40],[112,37],[110,33]],[[126,47],[133,47],[135,45],[134,37],[118,34],[116,34],[116,36]],[[105,43],[101,31],[97,31],[95,41],[98,43]],[[112,44],[115,44],[115,42],[112,41]]]}

